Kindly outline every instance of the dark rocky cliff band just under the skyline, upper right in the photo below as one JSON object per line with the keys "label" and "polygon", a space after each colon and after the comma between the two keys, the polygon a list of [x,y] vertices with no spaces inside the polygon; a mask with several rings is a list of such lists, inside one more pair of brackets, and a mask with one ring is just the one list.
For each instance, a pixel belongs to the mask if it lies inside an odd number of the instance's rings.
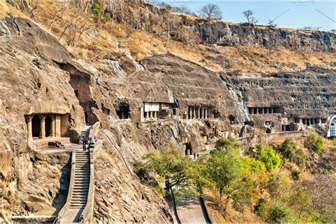
{"label": "dark rocky cliff band just under the skyline, upper right", "polygon": [[285,46],[302,50],[333,51],[336,45],[335,33],[322,31],[289,30],[267,26],[254,26],[248,23],[233,24],[222,21],[196,19],[184,24],[194,26],[196,33],[206,43],[223,46]]}

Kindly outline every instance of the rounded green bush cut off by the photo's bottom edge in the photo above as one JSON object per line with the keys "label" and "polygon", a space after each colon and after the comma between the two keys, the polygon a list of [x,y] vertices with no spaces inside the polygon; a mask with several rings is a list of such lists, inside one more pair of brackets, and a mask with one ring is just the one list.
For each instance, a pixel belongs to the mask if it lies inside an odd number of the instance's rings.
{"label": "rounded green bush cut off by the photo's bottom edge", "polygon": [[267,223],[289,223],[295,222],[295,218],[289,208],[280,205],[271,206],[269,215],[267,216]]}

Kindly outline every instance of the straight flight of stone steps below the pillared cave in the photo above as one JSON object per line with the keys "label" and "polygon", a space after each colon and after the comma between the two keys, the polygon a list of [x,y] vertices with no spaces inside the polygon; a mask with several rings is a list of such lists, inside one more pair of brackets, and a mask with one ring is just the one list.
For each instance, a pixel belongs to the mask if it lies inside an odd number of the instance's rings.
{"label": "straight flight of stone steps below the pillared cave", "polygon": [[74,172],[74,189],[70,203],[71,208],[84,208],[90,181],[90,154],[89,152],[76,151]]}

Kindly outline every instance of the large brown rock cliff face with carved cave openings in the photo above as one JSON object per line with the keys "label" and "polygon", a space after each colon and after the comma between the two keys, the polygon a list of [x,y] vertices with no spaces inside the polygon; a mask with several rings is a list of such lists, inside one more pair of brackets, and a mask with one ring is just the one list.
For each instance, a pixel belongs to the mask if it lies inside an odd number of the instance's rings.
{"label": "large brown rock cliff face with carved cave openings", "polygon": [[[103,132],[98,138],[104,140],[104,147],[95,164],[94,215],[103,222],[172,220],[153,186],[142,185],[133,173],[133,162],[145,152],[164,147],[177,147],[181,154],[187,149],[200,152],[217,138],[237,136],[242,125],[251,121],[259,126],[273,121],[274,129],[281,131],[281,125],[295,123],[295,118],[326,118],[335,113],[332,70],[218,74],[172,54],[135,62],[129,55],[111,53],[79,63],[52,35],[27,19],[1,20],[0,32],[1,187],[2,192],[13,189],[24,195],[13,200],[12,195],[2,193],[8,215],[57,208],[62,203],[52,204],[55,192],[66,195],[67,175],[62,177],[62,171],[68,174],[67,162],[58,161],[62,158],[57,156],[49,162],[27,144],[25,116],[30,113],[67,113],[65,135],[72,140],[77,140],[84,127],[85,113],[89,122],[101,122]],[[237,35],[242,36],[237,43],[250,44],[244,35]],[[321,49],[328,45],[319,43]],[[146,118],[144,103],[159,104],[160,119]],[[270,107],[280,108],[281,113],[251,115],[249,111]],[[204,113],[211,116],[205,118]],[[203,118],[195,117],[201,114]],[[43,189],[50,186],[50,179],[41,170],[55,177],[46,196]],[[30,178],[35,172],[40,175]],[[64,184],[57,186],[61,179]],[[45,180],[42,188],[41,180]],[[23,186],[26,181],[28,189]],[[28,196],[33,188],[37,198]],[[35,201],[40,203],[35,206]]]}

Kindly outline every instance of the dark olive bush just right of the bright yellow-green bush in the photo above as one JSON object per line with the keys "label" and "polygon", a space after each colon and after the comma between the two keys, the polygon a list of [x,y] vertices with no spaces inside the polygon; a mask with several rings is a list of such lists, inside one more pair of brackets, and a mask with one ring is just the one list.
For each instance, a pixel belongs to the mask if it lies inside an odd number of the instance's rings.
{"label": "dark olive bush just right of the bright yellow-green bush", "polygon": [[306,157],[298,142],[291,138],[284,140],[280,147],[280,152],[290,162],[294,162],[298,167],[303,168],[306,164]]}

